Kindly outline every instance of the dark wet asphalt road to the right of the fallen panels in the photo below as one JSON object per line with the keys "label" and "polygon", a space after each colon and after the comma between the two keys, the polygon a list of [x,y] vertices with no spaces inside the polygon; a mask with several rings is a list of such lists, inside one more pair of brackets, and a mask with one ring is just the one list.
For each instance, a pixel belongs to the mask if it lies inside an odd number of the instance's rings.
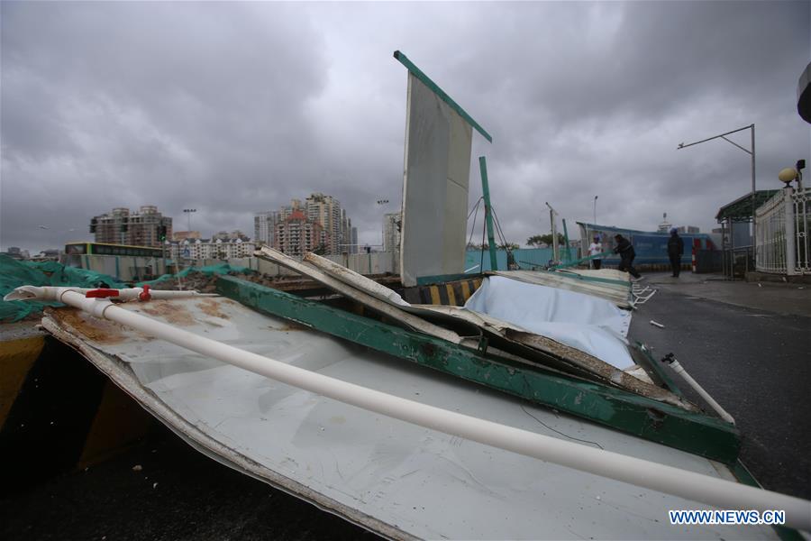
{"label": "dark wet asphalt road to the right of the fallen panels", "polygon": [[651,346],[657,360],[675,353],[735,418],[741,459],[764,487],[811,499],[811,317],[660,289],[634,314],[629,336]]}

